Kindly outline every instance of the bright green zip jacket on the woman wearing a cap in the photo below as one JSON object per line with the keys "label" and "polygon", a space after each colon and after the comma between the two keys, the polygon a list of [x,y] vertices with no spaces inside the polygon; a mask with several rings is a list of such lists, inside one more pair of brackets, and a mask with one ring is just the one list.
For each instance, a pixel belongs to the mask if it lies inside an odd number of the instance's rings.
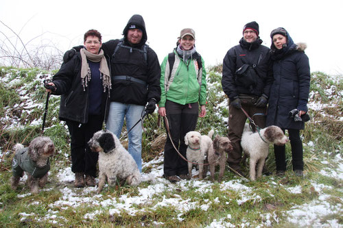
{"label": "bright green zip jacket on the woman wearing a cap", "polygon": [[[173,101],[181,105],[199,102],[200,105],[206,104],[206,69],[204,60],[202,68],[198,68],[196,58],[189,59],[187,64],[175,54],[175,62],[169,77],[168,55],[161,64],[161,101],[159,107],[165,107],[165,101]],[[198,55],[198,53],[194,54]]]}

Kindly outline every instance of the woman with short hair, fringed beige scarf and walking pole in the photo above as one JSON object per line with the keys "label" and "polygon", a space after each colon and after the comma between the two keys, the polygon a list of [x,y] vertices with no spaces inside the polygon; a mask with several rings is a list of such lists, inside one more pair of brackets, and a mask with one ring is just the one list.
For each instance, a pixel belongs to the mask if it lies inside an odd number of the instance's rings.
{"label": "woman with short hair, fringed beige scarf and walking pole", "polygon": [[66,121],[71,135],[71,170],[75,187],[95,186],[98,153],[87,142],[102,129],[111,87],[109,60],[106,60],[99,31],[84,34],[84,49],[62,64],[54,75],[51,89],[62,95],[59,118]]}

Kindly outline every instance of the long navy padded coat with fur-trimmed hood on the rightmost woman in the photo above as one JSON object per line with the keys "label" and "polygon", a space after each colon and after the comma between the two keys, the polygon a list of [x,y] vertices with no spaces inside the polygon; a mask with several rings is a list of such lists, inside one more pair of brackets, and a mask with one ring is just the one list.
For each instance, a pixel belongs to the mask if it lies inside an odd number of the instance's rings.
{"label": "long navy padded coat with fur-trimmed hood on the rightmost woman", "polygon": [[283,129],[304,129],[303,121],[289,117],[289,111],[298,109],[307,112],[309,97],[309,58],[292,45],[282,57],[274,60],[274,81],[270,90],[266,125]]}

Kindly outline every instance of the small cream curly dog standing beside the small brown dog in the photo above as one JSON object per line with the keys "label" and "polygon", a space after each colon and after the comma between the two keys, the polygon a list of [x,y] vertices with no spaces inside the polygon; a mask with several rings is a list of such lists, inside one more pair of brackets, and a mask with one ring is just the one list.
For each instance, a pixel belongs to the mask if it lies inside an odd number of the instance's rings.
{"label": "small cream curly dog standing beside the small brown dog", "polygon": [[[188,162],[188,177],[191,179],[193,164],[199,164],[199,178],[202,179],[204,174],[205,156],[213,151],[212,136],[214,131],[209,131],[208,136],[202,136],[198,131],[189,131],[185,136],[185,144],[188,146],[186,155]],[[205,173],[206,175],[206,173]]]}

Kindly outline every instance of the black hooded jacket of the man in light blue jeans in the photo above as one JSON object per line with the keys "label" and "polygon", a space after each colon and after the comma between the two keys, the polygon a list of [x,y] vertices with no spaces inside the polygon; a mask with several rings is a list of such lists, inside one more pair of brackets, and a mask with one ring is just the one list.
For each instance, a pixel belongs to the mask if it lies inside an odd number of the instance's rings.
{"label": "black hooded jacket of the man in light blue jeans", "polygon": [[[126,38],[128,30],[132,25],[143,31],[141,42],[137,45],[131,45]],[[142,52],[147,41],[147,32],[143,17],[134,14],[123,29],[123,35],[123,45],[125,47],[120,47],[116,52],[115,49],[119,40],[109,40],[102,44],[102,49],[111,58],[112,90],[110,100],[145,105],[147,101],[154,98],[158,103],[161,99],[161,67],[154,50],[146,45],[146,58]],[[114,57],[113,53],[115,53]],[[116,76],[134,77],[134,79],[145,82],[145,85],[134,80],[117,80],[115,79]]]}

